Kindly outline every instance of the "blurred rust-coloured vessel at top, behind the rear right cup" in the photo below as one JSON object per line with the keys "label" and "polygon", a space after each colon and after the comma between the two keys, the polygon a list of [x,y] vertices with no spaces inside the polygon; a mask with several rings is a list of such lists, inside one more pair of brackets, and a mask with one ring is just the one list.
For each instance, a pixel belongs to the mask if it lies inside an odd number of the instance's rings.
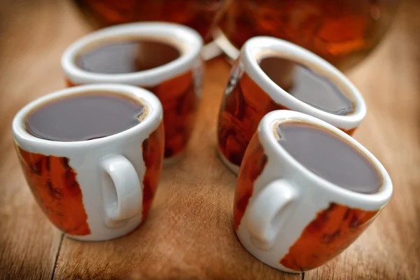
{"label": "blurred rust-coloured vessel at top, behind the rear right cup", "polygon": [[232,0],[216,41],[231,59],[253,36],[300,45],[346,69],[366,57],[391,25],[398,0]]}

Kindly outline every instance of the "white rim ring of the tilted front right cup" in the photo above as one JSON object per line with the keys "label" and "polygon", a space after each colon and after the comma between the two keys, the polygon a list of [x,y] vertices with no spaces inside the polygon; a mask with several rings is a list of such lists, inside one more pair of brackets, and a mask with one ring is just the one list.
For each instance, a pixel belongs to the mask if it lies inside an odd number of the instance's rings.
{"label": "white rim ring of the tilted front right cup", "polygon": [[[370,160],[370,162],[372,162],[374,167],[377,168],[382,180],[381,188],[379,188],[376,193],[372,194],[358,193],[337,186],[335,183],[331,183],[330,181],[321,178],[320,176],[314,174],[309,169],[304,167],[302,164],[300,164],[300,162],[295,160],[295,158],[293,158],[293,156],[290,155],[281,145],[278,144],[276,137],[274,137],[274,134],[272,133],[276,123],[286,120],[300,120],[304,123],[319,125],[332,132],[332,134],[336,134],[339,138],[344,139],[344,141],[347,141],[349,144],[351,144],[351,146],[360,151],[360,153],[363,153],[363,155],[365,155],[365,157]],[[316,182],[316,186],[320,186],[330,193],[335,193],[341,197],[349,198],[353,202],[356,202],[356,204],[369,204],[374,209],[379,209],[391,199],[391,195],[393,193],[391,177],[389,176],[388,172],[386,172],[386,169],[381,164],[381,162],[379,162],[379,160],[377,160],[377,158],[375,158],[374,155],[372,155],[372,153],[367,150],[367,148],[356,141],[356,139],[353,139],[353,137],[349,136],[349,134],[342,132],[342,130],[339,130],[337,127],[334,127],[333,125],[330,125],[323,120],[297,111],[272,111],[267,113],[267,115],[262,118],[260,125],[258,126],[258,137],[262,146],[267,145],[270,147],[271,155],[285,159],[286,162],[288,162],[288,165],[291,165],[291,167],[297,170],[300,175],[305,176],[305,178],[309,179],[310,181]]]}

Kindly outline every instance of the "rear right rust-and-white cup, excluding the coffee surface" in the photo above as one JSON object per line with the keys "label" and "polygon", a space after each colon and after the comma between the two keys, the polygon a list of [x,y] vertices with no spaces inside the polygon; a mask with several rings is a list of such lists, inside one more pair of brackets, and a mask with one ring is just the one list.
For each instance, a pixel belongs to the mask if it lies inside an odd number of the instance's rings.
{"label": "rear right rust-and-white cup, excluding the coffee surface", "polygon": [[[262,70],[260,63],[266,58],[287,59],[301,65],[332,84],[352,109],[339,115],[319,109],[293,96]],[[272,64],[273,73],[281,73],[281,82],[287,85],[293,78],[290,63]],[[309,89],[311,90],[310,86]],[[328,98],[325,98],[328,100]],[[366,115],[366,106],[358,89],[338,69],[309,50],[293,43],[271,37],[254,37],[246,41],[230,74],[218,117],[218,148],[221,159],[232,172],[239,171],[246,147],[258,123],[270,111],[288,109],[314,116],[352,134]]]}

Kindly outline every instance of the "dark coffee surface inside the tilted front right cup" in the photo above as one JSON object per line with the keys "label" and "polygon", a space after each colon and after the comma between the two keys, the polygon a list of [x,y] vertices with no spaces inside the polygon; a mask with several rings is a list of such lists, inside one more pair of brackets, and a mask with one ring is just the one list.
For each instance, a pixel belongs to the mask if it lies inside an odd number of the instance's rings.
{"label": "dark coffee surface inside the tilted front right cup", "polygon": [[337,186],[357,193],[377,193],[379,172],[354,146],[331,132],[302,122],[279,123],[279,144],[304,167]]}

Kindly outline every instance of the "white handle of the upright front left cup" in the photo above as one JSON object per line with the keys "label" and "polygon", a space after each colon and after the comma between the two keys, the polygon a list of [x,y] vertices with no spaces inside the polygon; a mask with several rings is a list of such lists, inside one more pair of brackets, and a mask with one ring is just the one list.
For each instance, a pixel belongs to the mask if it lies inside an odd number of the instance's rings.
{"label": "white handle of the upright front left cup", "polygon": [[123,155],[107,155],[99,165],[111,179],[104,179],[102,184],[105,223],[119,228],[141,211],[143,186],[136,169]]}

